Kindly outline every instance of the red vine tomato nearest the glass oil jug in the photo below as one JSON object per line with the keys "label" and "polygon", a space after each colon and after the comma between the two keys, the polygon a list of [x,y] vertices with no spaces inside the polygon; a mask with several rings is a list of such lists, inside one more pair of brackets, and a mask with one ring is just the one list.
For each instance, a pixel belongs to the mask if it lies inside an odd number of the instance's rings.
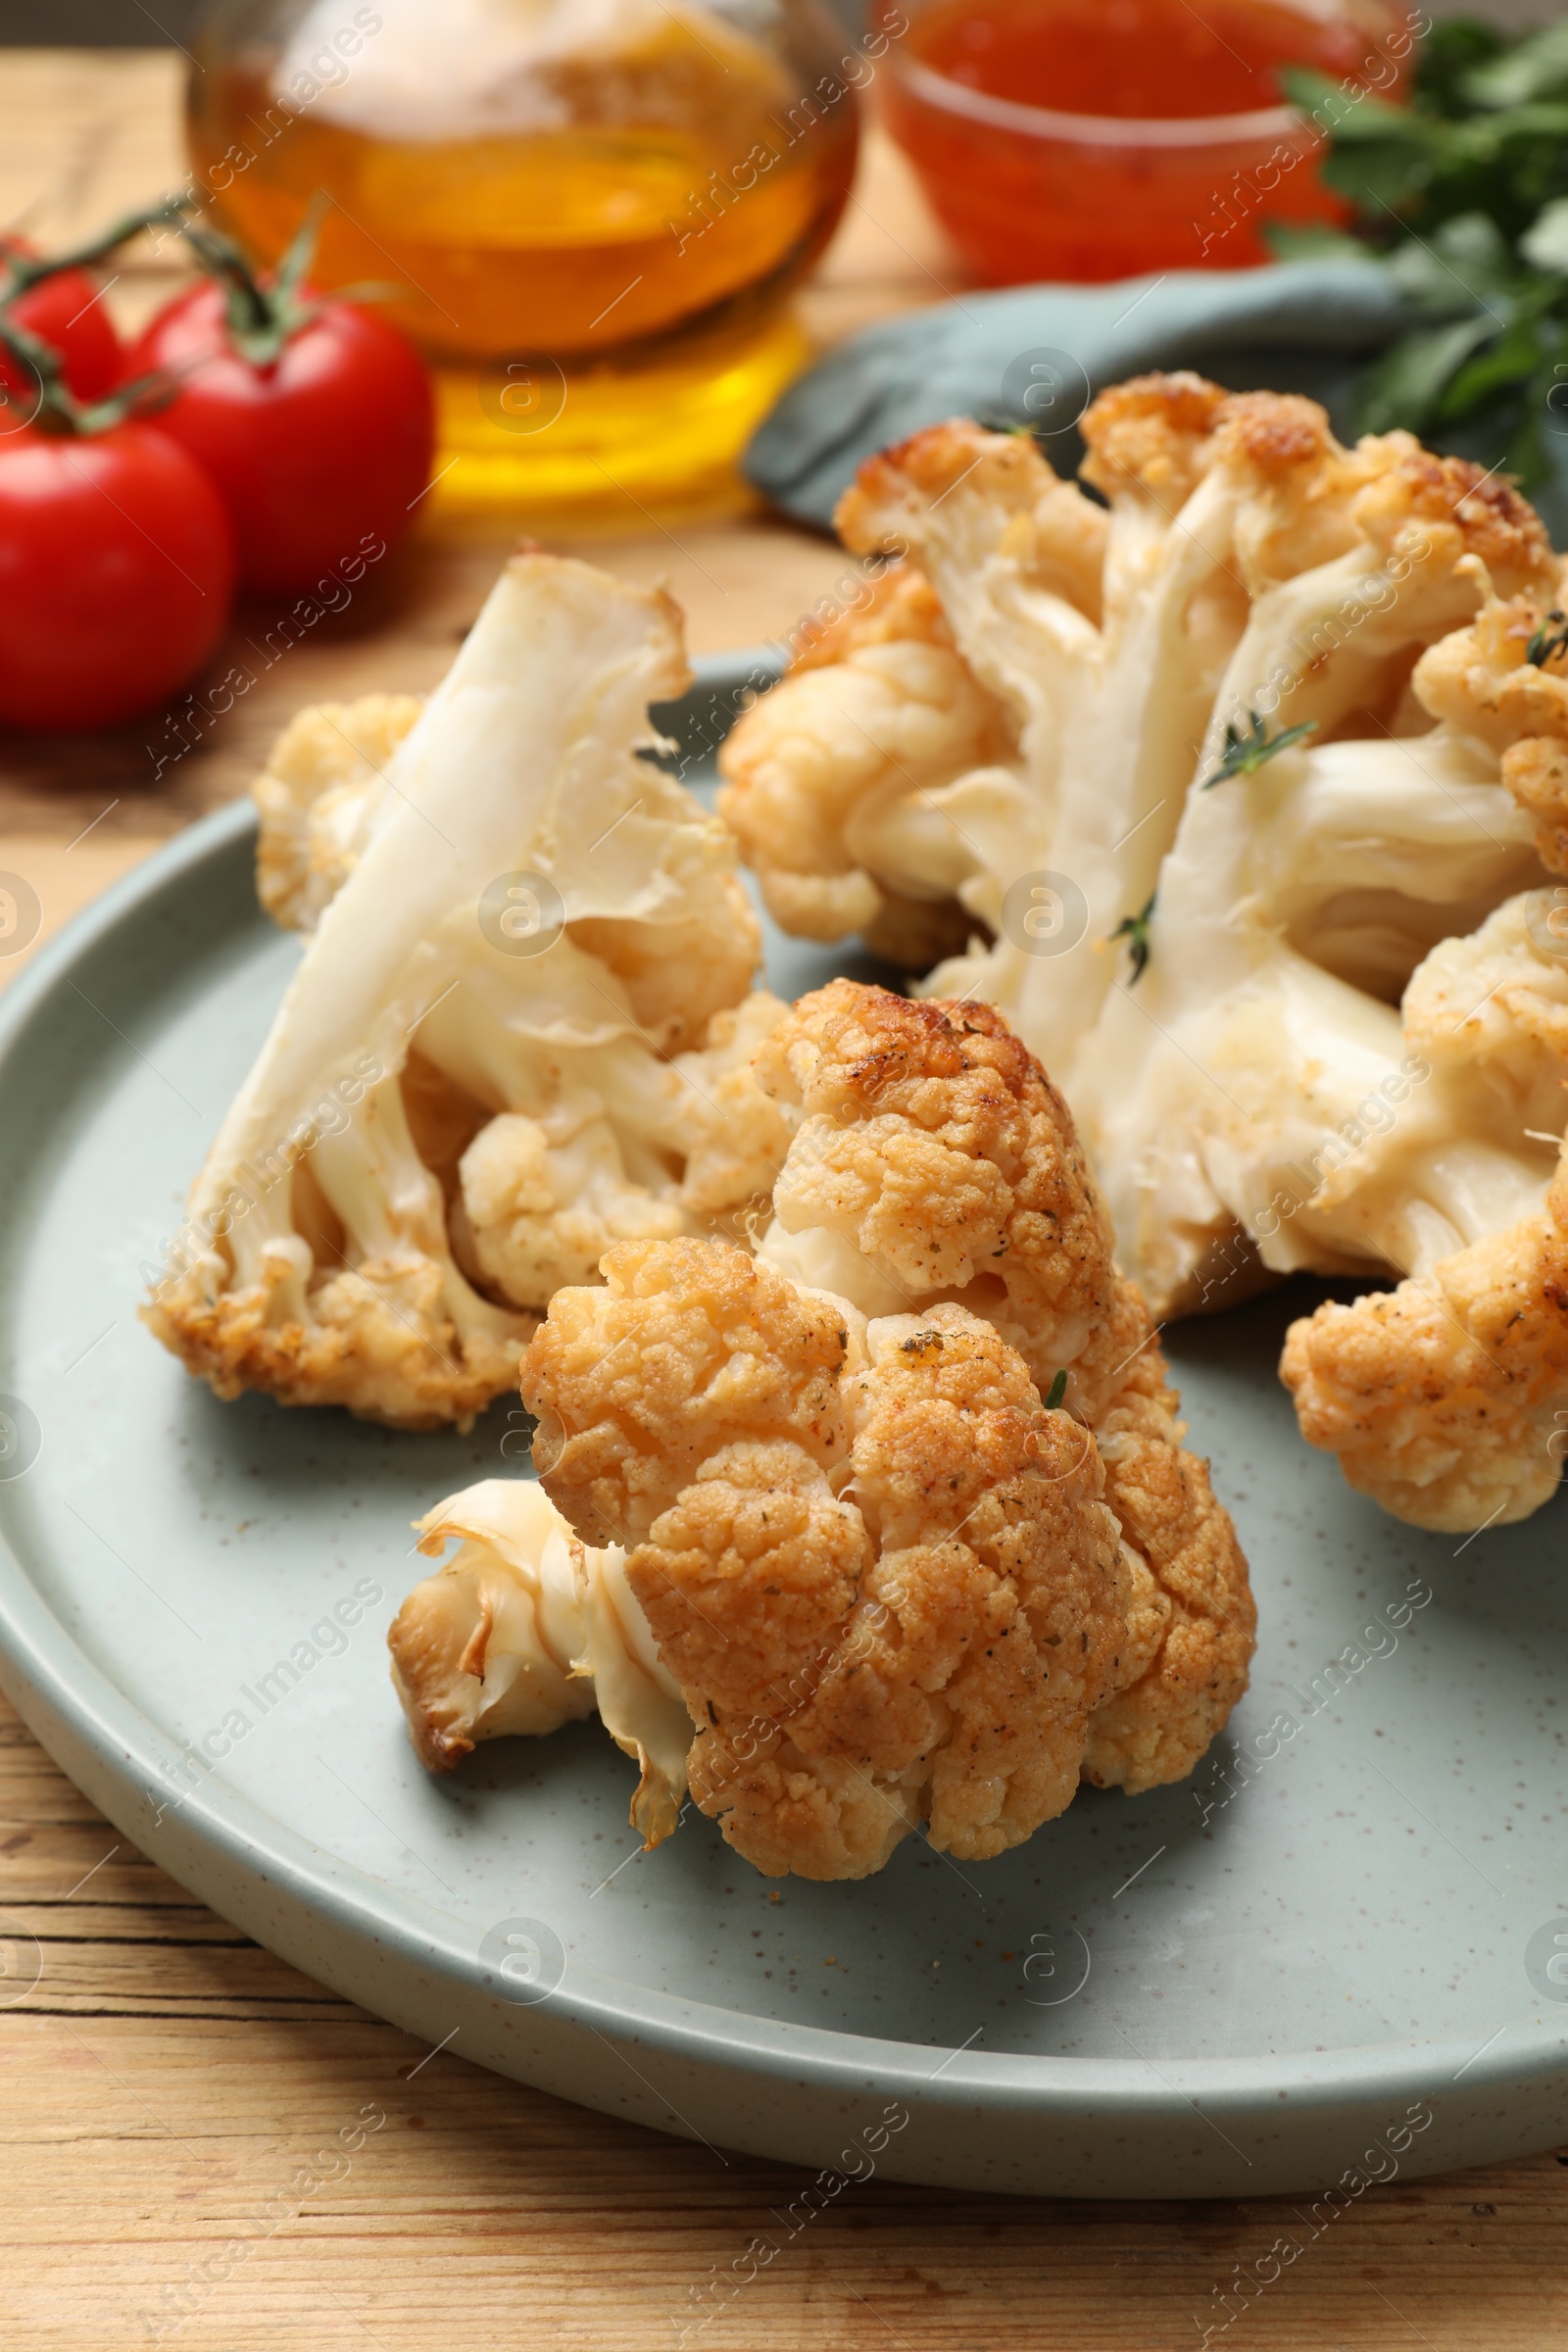
{"label": "red vine tomato nearest the glass oil jug", "polygon": [[409,529],[430,480],[430,379],[371,310],[322,299],[277,360],[254,367],[228,339],[221,287],[202,280],[158,313],[127,369],[179,381],[158,430],[219,485],[247,588],[299,595],[367,532],[390,548]]}

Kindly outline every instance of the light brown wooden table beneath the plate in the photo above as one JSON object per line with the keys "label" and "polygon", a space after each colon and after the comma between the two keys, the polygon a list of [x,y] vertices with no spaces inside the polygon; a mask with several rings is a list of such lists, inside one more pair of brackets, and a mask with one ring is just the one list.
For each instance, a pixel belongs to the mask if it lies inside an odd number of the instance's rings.
{"label": "light brown wooden table beneath the plate", "polygon": [[[174,183],[176,66],[0,52],[0,219],[35,207],[31,226],[54,238]],[[832,339],[959,282],[898,158],[872,141],[809,292],[813,329]],[[134,263],[115,289],[127,315],[158,294]],[[473,534],[409,550],[160,786],[141,729],[0,748],[0,868],[33,880],[45,936],[158,837],[240,790],[299,703],[440,677],[501,553],[501,536]],[[696,649],[788,630],[839,569],[823,541],[755,513],[628,529],[590,553],[639,579],[665,574]],[[45,1947],[38,1990],[0,2009],[7,2347],[663,2352],[691,2328],[693,2288],[715,2265],[759,2232],[783,2234],[769,2211],[797,2192],[792,2171],[585,2114],[451,2051],[428,2056],[162,1877],[2,1708],[0,1915]],[[353,2114],[386,2122],[348,2176],[289,2194],[296,2166]],[[1568,2345],[1566,2166],[1547,2154],[1368,2192],[1229,2345]],[[263,2201],[277,2216],[277,2197],[284,2220],[259,2220]],[[1211,2291],[1288,2225],[1284,2201],[987,2201],[872,2178],[684,2340],[1187,2352]]]}

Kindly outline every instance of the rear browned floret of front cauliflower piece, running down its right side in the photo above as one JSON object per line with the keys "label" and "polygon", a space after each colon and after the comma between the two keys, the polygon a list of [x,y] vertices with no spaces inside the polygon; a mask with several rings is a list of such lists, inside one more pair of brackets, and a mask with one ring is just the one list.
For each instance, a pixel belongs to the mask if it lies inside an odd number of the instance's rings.
{"label": "rear browned floret of front cauliflower piece, running down its right side", "polygon": [[[757,1075],[806,1117],[773,1192],[802,1279],[891,1284],[917,1315],[952,1298],[997,1327],[1041,1392],[1095,1432],[1105,1498],[1143,1573],[1147,1668],[1095,1717],[1088,1778],[1180,1780],[1241,1691],[1255,1609],[1208,1465],[1182,1451],[1180,1399],[1063,1103],[987,1004],[910,1004],[832,981],[766,1037]],[[853,1244],[827,1254],[823,1237]],[[884,1294],[865,1291],[877,1308]]]}

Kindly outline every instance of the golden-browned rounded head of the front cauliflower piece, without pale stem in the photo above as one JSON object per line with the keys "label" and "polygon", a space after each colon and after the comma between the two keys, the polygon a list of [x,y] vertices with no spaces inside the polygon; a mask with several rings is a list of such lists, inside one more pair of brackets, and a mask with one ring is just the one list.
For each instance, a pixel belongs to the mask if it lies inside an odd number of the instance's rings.
{"label": "golden-browned rounded head of the front cauliflower piece, without pale stem", "polygon": [[[849,981],[757,1082],[799,1131],[755,1258],[616,1244],[522,1369],[543,1491],[689,1710],[691,1799],[759,1870],[849,1879],[1182,1778],[1246,1686],[1246,1562],[1060,1096],[987,1007]],[[440,1585],[395,1628],[435,1764],[416,1630],[489,1639]]]}

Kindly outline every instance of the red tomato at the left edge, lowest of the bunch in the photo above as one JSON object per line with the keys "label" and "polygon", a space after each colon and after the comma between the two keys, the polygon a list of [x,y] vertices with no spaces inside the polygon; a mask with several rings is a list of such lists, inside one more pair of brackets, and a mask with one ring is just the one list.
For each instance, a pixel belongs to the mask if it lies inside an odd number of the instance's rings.
{"label": "red tomato at the left edge, lowest of the bunch", "polygon": [[228,619],[223,501],[153,426],[0,430],[0,720],[108,727],[181,687]]}

